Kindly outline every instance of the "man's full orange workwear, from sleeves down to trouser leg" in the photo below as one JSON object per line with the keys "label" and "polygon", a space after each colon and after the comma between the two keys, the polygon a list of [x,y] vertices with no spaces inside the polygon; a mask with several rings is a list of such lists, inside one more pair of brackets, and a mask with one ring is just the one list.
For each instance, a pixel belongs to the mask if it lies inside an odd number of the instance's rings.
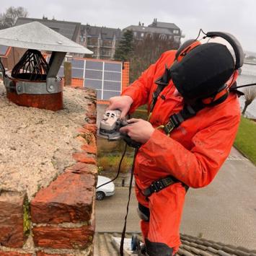
{"label": "man's full orange workwear, from sleeves down to trouser leg", "polygon": [[[166,64],[171,66],[175,53],[175,50],[163,53],[156,63],[124,90],[122,95],[133,99],[130,112],[146,103],[150,106],[157,87],[154,81],[162,76]],[[150,123],[154,128],[167,124],[170,115],[182,110],[182,97],[175,97],[174,92],[175,85],[171,80],[159,95],[152,112]],[[220,105],[206,107],[195,117],[185,120],[170,136],[160,129],[155,130],[149,141],[141,146],[136,156],[134,177],[138,203],[150,210],[149,222],[141,221],[144,239],[167,244],[174,249],[174,254],[177,252],[181,244],[179,229],[185,201],[185,187],[181,182],[198,188],[213,180],[229,155],[239,120],[237,94],[231,93]],[[181,182],[153,193],[147,200],[141,190],[149,187],[154,180],[168,175]]]}

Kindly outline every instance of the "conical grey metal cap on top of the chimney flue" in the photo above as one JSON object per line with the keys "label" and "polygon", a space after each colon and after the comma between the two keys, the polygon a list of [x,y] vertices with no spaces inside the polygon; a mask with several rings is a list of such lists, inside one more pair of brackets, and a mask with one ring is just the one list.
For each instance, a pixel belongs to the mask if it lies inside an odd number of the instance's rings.
{"label": "conical grey metal cap on top of the chimney flue", "polygon": [[0,30],[0,45],[64,53],[93,53],[40,22],[30,22]]}

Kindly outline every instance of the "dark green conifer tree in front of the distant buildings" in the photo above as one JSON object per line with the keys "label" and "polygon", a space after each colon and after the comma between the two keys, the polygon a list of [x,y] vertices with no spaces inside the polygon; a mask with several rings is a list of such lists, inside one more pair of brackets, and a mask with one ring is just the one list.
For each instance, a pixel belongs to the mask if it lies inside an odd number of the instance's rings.
{"label": "dark green conifer tree in front of the distant buildings", "polygon": [[116,61],[129,61],[134,48],[133,32],[131,30],[126,30],[123,33],[123,37],[120,40],[118,47],[115,50],[115,60]]}

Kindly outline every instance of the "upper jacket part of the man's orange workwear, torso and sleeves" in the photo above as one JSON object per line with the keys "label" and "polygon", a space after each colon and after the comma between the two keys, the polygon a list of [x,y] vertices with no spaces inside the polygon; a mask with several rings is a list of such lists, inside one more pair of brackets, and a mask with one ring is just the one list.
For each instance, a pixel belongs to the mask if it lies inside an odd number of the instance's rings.
{"label": "upper jacket part of the man's orange workwear, torso and sleeves", "polygon": [[[163,53],[125,89],[123,95],[133,99],[130,112],[140,105],[150,105],[156,89],[154,81],[162,76],[166,64],[171,66],[175,53],[175,50]],[[175,97],[174,91],[175,85],[170,81],[159,95],[150,119],[154,128],[168,123],[170,115],[182,110],[182,97]],[[164,100],[161,95],[164,95]],[[155,130],[136,156],[134,175],[138,187],[144,189],[167,175],[176,177],[189,187],[208,185],[229,155],[239,120],[237,94],[231,93],[220,105],[206,107],[195,117],[185,120],[170,136],[162,130]]]}

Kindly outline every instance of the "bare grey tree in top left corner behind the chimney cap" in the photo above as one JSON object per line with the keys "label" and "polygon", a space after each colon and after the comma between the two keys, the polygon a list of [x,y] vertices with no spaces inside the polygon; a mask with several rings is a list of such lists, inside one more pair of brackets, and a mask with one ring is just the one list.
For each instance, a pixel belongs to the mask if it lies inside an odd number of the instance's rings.
{"label": "bare grey tree in top left corner behind the chimney cap", "polygon": [[0,14],[0,29],[14,26],[19,17],[27,17],[27,14],[27,10],[21,6],[9,7],[6,12]]}

